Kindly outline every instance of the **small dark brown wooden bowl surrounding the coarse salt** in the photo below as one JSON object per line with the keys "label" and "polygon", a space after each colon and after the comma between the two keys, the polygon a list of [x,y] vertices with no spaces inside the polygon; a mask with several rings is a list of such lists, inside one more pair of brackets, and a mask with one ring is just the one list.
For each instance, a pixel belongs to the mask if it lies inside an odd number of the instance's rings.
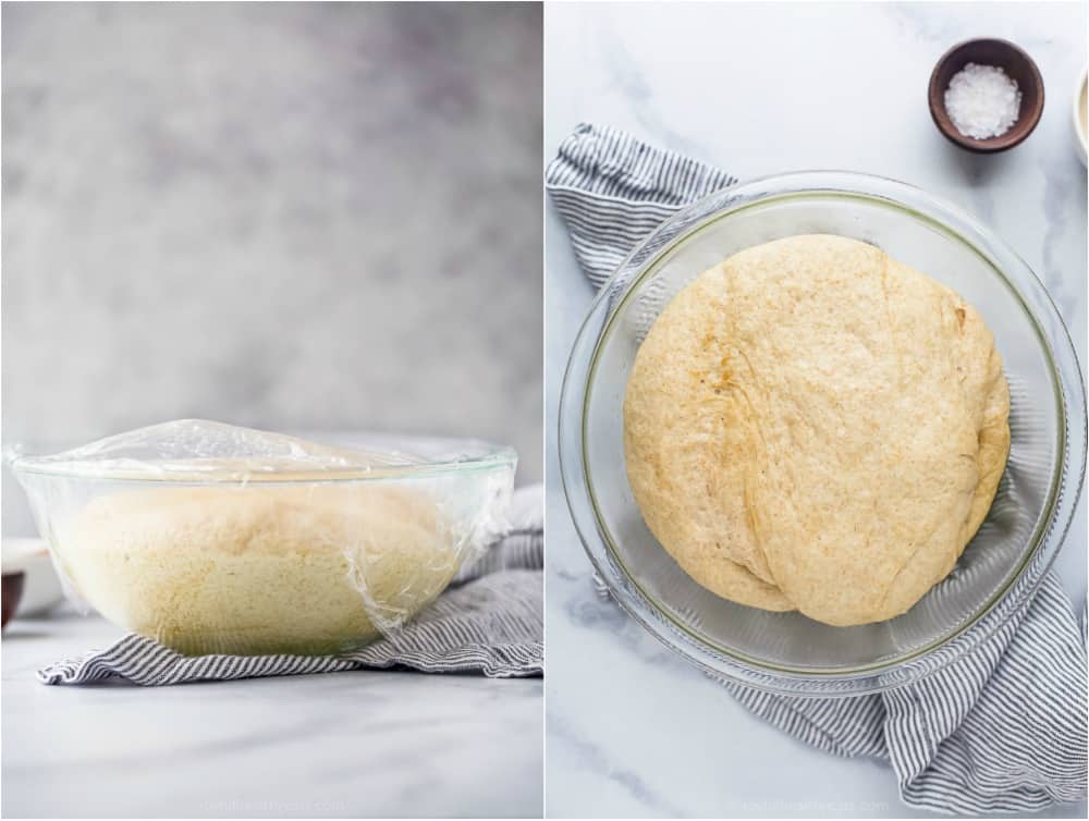
{"label": "small dark brown wooden bowl surrounding the coarse salt", "polygon": [[[956,130],[945,110],[945,89],[949,88],[953,75],[968,63],[996,65],[1016,81],[1020,89],[1021,107],[1017,122],[1001,136],[988,139],[966,137]],[[934,125],[951,143],[977,154],[994,154],[1013,148],[1023,142],[1040,122],[1040,115],[1043,113],[1043,77],[1040,76],[1040,70],[1036,68],[1032,58],[1008,40],[990,38],[966,40],[942,54],[942,59],[938,61],[930,75],[928,97]]]}

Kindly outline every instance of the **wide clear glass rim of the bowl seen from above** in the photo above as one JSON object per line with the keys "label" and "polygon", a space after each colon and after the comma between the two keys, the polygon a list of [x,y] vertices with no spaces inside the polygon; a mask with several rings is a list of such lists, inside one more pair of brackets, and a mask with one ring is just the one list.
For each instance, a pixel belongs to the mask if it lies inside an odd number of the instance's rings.
{"label": "wide clear glass rim of the bowl seen from above", "polygon": [[[775,191],[766,191],[769,186],[774,187]],[[711,222],[757,203],[768,203],[787,196],[821,194],[854,195],[871,200],[883,200],[885,205],[905,210],[913,217],[934,224],[944,233],[952,234],[953,237],[979,255],[1000,275],[1005,285],[1021,303],[1040,336],[1048,358],[1052,363],[1052,383],[1056,391],[1057,413],[1062,417],[1060,419],[1060,436],[1063,439],[1061,442],[1062,459],[1052,481],[1047,515],[1033,531],[1035,547],[1027,551],[1019,566],[1007,577],[1002,589],[992,595],[984,606],[967,617],[963,624],[956,626],[938,641],[929,642],[926,647],[916,649],[907,657],[856,665],[849,670],[784,670],[746,658],[742,653],[731,653],[723,648],[709,645],[664,612],[651,597],[639,588],[635,579],[617,562],[615,551],[607,543],[608,536],[602,532],[596,500],[592,499],[592,486],[586,469],[586,409],[599,346],[605,338],[608,324],[620,313],[622,299],[616,299],[619,294],[622,293],[623,298],[629,296],[638,282],[651,270],[657,269],[664,257]],[[727,200],[725,205],[709,210],[710,206],[714,206],[717,200],[723,197]],[[937,211],[938,217],[933,216],[934,211]],[[686,220],[693,218],[693,215],[700,216],[693,224],[681,229],[664,245],[654,249],[648,259],[640,260],[635,271],[625,281],[619,281],[619,278],[632,266],[633,260],[645,253],[656,240],[675,230],[678,225],[683,225]],[[971,234],[974,238],[969,241],[964,235],[965,233]],[[1004,265],[1000,264],[992,254],[984,252],[983,248],[1004,256]],[[1010,265],[1020,269],[1024,283],[1015,284],[1010,280],[1004,270]],[[1032,301],[1031,307],[1026,302],[1025,290],[1030,292],[1028,296]],[[610,302],[612,303],[611,307],[609,306]],[[589,336],[597,327],[594,324],[595,320],[600,319],[599,315],[602,314],[603,309],[608,316],[603,324],[599,323],[600,328],[590,340]],[[1037,311],[1047,315],[1044,318],[1048,320],[1047,324],[1051,329],[1051,333],[1041,324],[1042,318],[1038,316]],[[585,362],[579,363],[579,354],[591,346],[592,353],[586,357]],[[1056,350],[1056,346],[1060,346],[1060,350]],[[578,379],[579,376],[585,377],[585,379]],[[1069,393],[1073,393],[1073,396],[1068,395]],[[1081,422],[1079,429],[1072,429],[1069,418],[1072,414],[1079,417]],[[597,574],[612,592],[613,598],[666,647],[681,653],[711,675],[745,686],[790,695],[848,696],[903,686],[930,675],[944,666],[952,658],[958,658],[977,648],[988,636],[1001,627],[1005,621],[1004,617],[992,620],[994,624],[986,629],[986,635],[980,636],[967,647],[965,646],[967,639],[971,637],[966,634],[976,626],[987,627],[989,616],[996,608],[1008,603],[1015,593],[1017,593],[1015,610],[1018,609],[1042,581],[1047,568],[1054,561],[1057,549],[1062,547],[1062,541],[1073,520],[1073,512],[1080,497],[1085,475],[1085,387],[1080,366],[1069,332],[1039,278],[993,232],[979,224],[975,218],[966,215],[959,208],[907,183],[856,172],[799,171],[755,179],[714,192],[682,208],[652,231],[632,250],[610,280],[601,287],[578,331],[564,372],[558,421],[561,478],[567,506],[584,549]],[[1072,466],[1072,462],[1077,464]],[[1070,482],[1072,467],[1075,473],[1075,487],[1067,488]],[[1060,525],[1057,537],[1056,524]],[[597,539],[594,538],[595,536]],[[1052,544],[1054,544],[1054,549],[1050,551],[1049,555],[1044,548]],[[1029,578],[1029,569],[1041,557],[1047,560],[1045,566],[1038,568],[1039,572],[1031,585],[1025,586],[1023,583]],[[1008,608],[1006,609],[1008,610]],[[1006,614],[1007,616],[1008,614]],[[681,646],[671,638],[680,638]],[[897,675],[901,676],[898,681],[892,671],[896,671]],[[813,691],[813,688],[819,691]]]}

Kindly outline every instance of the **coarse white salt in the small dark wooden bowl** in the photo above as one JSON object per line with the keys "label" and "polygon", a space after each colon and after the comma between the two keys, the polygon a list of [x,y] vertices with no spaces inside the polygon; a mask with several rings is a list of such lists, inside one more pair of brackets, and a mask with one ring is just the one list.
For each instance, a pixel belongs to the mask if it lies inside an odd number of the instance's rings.
{"label": "coarse white salt in the small dark wooden bowl", "polygon": [[1020,96],[1017,82],[1002,69],[968,63],[945,89],[945,111],[966,137],[999,137],[1017,122]]}

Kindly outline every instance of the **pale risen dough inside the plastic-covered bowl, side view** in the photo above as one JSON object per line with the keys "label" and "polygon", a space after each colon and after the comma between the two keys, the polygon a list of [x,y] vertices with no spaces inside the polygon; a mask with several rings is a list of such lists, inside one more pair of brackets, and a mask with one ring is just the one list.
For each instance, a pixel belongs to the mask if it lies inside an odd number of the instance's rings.
{"label": "pale risen dough inside the plastic-covered bowl, side view", "polygon": [[326,653],[438,596],[460,544],[405,488],[174,487],[100,497],[59,535],[107,618],[183,653]]}

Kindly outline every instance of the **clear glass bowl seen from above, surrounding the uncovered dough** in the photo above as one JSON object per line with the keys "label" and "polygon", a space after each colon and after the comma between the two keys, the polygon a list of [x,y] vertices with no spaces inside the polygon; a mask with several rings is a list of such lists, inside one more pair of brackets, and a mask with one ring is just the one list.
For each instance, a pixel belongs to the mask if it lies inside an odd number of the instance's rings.
{"label": "clear glass bowl seen from above, surrounding the uncovered dough", "polygon": [[[994,333],[1011,391],[1011,452],[994,503],[953,573],[907,613],[831,627],[719,598],[648,530],[624,467],[622,403],[650,324],[698,274],[795,234],[854,237],[952,287]],[[613,598],[720,677],[803,696],[901,686],[977,647],[1030,599],[1070,524],[1086,462],[1085,389],[1069,335],[1029,267],[972,218],[891,180],[802,172],[677,212],[621,265],[575,341],[560,401],[567,504]]]}

